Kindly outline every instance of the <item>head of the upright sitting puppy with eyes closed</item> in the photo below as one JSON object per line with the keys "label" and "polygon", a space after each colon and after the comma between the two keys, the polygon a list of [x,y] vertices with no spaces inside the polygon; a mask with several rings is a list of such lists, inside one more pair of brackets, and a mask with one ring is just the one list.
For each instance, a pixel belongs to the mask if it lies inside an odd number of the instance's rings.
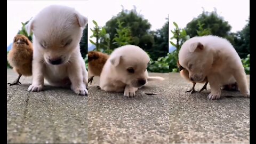
{"label": "head of the upright sitting puppy with eyes closed", "polygon": [[35,51],[43,54],[50,65],[61,65],[70,60],[71,53],[79,53],[79,41],[87,18],[67,6],[45,7],[26,25],[33,31]]}

